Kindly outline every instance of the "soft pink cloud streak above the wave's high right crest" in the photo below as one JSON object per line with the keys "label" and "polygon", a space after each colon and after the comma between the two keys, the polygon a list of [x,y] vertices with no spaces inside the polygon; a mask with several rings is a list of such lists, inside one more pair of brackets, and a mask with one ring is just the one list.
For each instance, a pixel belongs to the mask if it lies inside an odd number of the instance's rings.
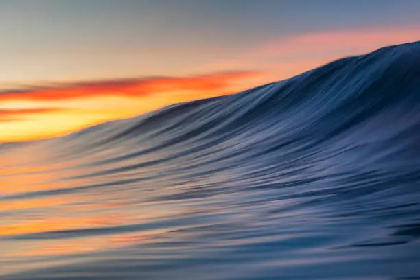
{"label": "soft pink cloud streak above the wave's high right crest", "polygon": [[275,80],[290,78],[332,60],[368,53],[387,45],[420,40],[420,26],[324,30],[272,38],[210,65],[220,69],[264,69]]}

